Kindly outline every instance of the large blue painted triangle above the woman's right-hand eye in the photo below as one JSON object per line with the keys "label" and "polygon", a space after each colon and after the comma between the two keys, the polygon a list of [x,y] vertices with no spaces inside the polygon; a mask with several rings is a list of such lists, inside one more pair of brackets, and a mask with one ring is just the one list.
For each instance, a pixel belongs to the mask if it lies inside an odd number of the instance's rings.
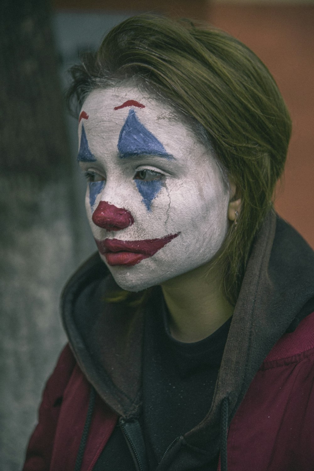
{"label": "large blue painted triangle above the woman's right-hand eye", "polygon": [[137,155],[157,155],[173,159],[160,141],[138,120],[135,111],[130,110],[122,126],[118,139],[118,151],[121,159]]}

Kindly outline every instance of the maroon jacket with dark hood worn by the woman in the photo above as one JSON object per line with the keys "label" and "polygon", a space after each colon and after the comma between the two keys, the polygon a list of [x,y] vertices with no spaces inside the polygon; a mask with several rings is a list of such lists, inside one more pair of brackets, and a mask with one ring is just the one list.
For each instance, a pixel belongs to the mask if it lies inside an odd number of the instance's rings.
{"label": "maroon jacket with dark hood worn by the woman", "polygon": [[[138,414],[141,311],[108,305],[105,316],[93,317],[99,311],[93,300],[103,300],[103,269],[90,260],[66,288],[63,319],[71,348],[47,382],[24,471],[74,469],[90,383],[97,395],[82,471],[93,469],[118,417]],[[108,291],[112,280],[106,283]],[[226,397],[228,471],[314,470],[313,300],[313,252],[269,216],[252,250],[209,413],[169,450],[158,471],[191,470],[210,441],[218,449]]]}

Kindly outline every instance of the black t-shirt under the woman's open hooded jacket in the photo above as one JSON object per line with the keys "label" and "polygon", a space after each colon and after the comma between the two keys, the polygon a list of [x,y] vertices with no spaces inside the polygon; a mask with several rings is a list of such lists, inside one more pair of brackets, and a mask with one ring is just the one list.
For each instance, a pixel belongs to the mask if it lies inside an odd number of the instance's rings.
{"label": "black t-shirt under the woman's open hooded jacket", "polygon": [[[149,469],[171,443],[195,427],[210,409],[231,318],[204,340],[185,343],[168,330],[164,303],[146,317],[143,347],[143,408],[139,421]],[[217,459],[207,470],[217,469]],[[135,466],[119,426],[115,428],[94,470],[133,471]],[[201,470],[201,468],[200,468]]]}

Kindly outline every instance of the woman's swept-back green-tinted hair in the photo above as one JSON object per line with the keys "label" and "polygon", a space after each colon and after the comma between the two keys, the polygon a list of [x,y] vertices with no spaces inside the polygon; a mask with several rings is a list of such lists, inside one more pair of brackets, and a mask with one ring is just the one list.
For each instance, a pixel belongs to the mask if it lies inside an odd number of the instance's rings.
{"label": "woman's swept-back green-tinted hair", "polygon": [[217,28],[140,15],[115,26],[71,69],[68,99],[136,79],[204,128],[237,187],[241,211],[220,251],[227,298],[235,304],[252,240],[272,207],[291,121],[267,67]]}

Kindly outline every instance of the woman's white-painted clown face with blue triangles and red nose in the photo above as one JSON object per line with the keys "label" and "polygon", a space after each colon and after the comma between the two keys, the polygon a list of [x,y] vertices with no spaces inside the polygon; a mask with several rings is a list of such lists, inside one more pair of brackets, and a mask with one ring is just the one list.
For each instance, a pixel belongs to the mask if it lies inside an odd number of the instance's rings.
{"label": "woman's white-painted clown face with blue triangles and red nose", "polygon": [[135,86],[94,90],[79,142],[89,223],[121,288],[140,291],[214,257],[229,188],[181,114]]}

